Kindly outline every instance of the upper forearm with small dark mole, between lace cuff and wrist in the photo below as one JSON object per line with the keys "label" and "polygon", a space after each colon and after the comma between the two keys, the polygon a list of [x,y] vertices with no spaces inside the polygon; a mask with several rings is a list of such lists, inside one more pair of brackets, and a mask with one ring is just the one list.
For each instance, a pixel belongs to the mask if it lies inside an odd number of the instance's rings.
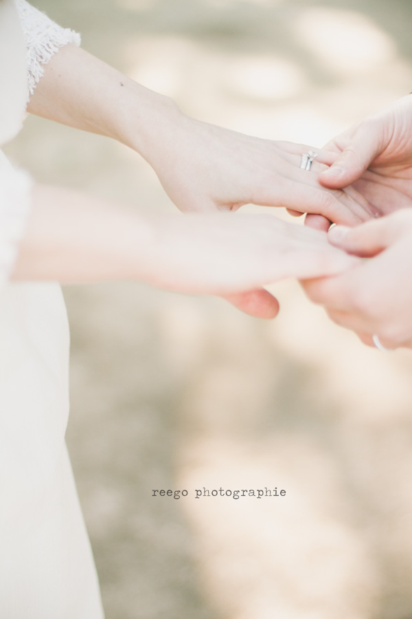
{"label": "upper forearm with small dark mole, between lace cuff and wrist", "polygon": [[114,138],[150,158],[180,115],[174,102],[130,80],[75,45],[44,67],[27,111],[69,127]]}

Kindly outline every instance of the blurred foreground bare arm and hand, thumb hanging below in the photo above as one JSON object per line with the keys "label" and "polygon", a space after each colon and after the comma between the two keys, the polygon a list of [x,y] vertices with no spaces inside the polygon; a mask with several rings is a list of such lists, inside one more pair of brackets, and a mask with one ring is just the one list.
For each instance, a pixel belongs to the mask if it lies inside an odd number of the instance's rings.
{"label": "blurred foreground bare arm and hand, thumb hanging below", "polygon": [[155,219],[118,204],[36,186],[14,279],[62,283],[133,279],[175,292],[217,294],[271,318],[263,286],[339,273],[358,262],[324,232],[273,215],[213,213]]}

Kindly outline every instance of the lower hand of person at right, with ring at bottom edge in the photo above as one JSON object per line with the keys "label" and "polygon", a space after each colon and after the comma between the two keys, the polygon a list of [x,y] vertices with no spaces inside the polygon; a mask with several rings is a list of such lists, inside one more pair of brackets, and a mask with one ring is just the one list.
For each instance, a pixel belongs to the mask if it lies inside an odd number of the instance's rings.
{"label": "lower hand of person at right, with ring at bottom edge", "polygon": [[356,228],[336,226],[330,242],[368,258],[336,277],[302,282],[332,321],[372,346],[412,348],[412,210],[402,209]]}

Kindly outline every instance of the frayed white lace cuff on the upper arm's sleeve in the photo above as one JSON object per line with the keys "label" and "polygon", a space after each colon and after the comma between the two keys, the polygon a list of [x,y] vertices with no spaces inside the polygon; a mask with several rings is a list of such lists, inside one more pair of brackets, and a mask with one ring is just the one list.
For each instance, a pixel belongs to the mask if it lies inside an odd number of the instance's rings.
{"label": "frayed white lace cuff on the upper arm's sleeve", "polygon": [[27,47],[27,79],[32,95],[43,76],[43,65],[47,65],[59,47],[69,43],[80,45],[80,34],[69,28],[62,28],[25,0],[15,2]]}

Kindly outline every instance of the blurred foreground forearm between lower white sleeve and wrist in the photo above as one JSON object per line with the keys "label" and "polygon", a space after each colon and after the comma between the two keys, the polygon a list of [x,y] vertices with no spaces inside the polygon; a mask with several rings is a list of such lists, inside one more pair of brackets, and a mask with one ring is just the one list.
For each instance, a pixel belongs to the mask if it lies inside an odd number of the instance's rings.
{"label": "blurred foreground forearm between lower white sleeve and wrist", "polygon": [[151,241],[152,226],[144,217],[88,195],[36,185],[12,280],[150,279]]}

